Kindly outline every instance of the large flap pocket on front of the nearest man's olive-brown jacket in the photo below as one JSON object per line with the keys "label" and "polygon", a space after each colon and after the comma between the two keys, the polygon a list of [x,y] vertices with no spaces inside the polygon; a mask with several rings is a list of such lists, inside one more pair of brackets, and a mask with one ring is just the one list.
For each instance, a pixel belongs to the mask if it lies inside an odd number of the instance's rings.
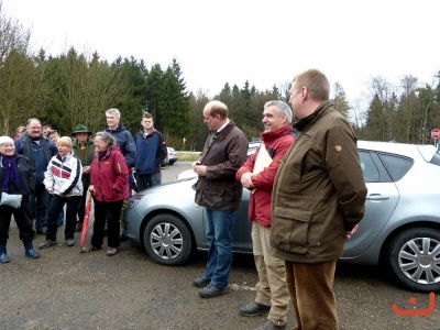
{"label": "large flap pocket on front of the nearest man's olive-brown jacket", "polygon": [[306,254],[311,211],[275,207],[272,244],[279,250]]}

